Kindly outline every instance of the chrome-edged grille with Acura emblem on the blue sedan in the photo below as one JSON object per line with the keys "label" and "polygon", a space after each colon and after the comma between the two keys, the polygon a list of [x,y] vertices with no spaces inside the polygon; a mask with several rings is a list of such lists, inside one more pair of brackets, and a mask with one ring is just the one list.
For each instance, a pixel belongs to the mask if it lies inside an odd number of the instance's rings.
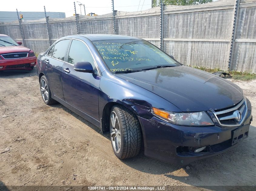
{"label": "chrome-edged grille with Acura emblem on the blue sedan", "polygon": [[221,126],[239,126],[244,122],[247,110],[247,101],[244,98],[235,107],[213,112],[213,114]]}

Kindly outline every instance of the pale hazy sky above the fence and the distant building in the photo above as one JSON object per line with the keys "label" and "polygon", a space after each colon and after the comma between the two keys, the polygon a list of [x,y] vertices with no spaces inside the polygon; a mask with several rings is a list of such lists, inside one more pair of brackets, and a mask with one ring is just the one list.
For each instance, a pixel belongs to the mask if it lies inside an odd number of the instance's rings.
{"label": "pale hazy sky above the fence and the distant building", "polygon": [[[79,0],[85,4],[85,12],[98,15],[112,12],[111,0]],[[77,14],[80,14],[80,6],[75,0]],[[74,0],[1,0],[0,11],[46,11],[65,12],[66,17],[73,16]],[[151,0],[114,0],[114,7],[117,11],[141,11],[151,8]],[[84,7],[81,6],[81,14],[84,14]]]}

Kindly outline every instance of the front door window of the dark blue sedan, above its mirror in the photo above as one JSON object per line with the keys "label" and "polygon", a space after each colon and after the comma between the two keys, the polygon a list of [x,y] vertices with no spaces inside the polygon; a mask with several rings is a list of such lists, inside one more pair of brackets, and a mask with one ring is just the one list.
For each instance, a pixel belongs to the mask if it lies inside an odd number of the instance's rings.
{"label": "front door window of the dark blue sedan, above its mirror", "polygon": [[77,62],[90,62],[92,67],[96,69],[94,59],[85,43],[79,40],[72,40],[68,53],[68,63],[75,64]]}

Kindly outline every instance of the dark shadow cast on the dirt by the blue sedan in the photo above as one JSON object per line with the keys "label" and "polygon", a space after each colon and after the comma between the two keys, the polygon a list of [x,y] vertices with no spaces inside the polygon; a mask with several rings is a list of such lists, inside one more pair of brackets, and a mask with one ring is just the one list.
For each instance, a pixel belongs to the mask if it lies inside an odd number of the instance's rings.
{"label": "dark shadow cast on the dirt by the blue sedan", "polygon": [[[78,116],[76,113],[72,112],[63,105],[56,104],[52,107],[62,108],[72,116],[79,119],[81,122],[91,127],[91,129],[109,139],[109,135],[103,135],[97,126],[83,119],[81,116]],[[214,185],[241,185],[241,181],[243,181],[244,185],[246,186],[255,186],[254,176],[247,177],[247,180],[240,180],[240,176],[238,176],[241,173],[246,174],[246,171],[252,171],[253,169],[251,169],[251,166],[246,164],[246,161],[255,161],[256,159],[255,150],[253,147],[251,147],[251,144],[253,143],[251,140],[254,139],[253,137],[256,135],[254,126],[250,126],[249,134],[251,134],[251,137],[249,136],[249,138],[238,143],[238,145],[233,149],[211,158],[194,161],[185,166],[168,164],[148,158],[144,155],[143,151],[141,151],[141,153],[134,158],[121,161],[124,163],[124,165],[127,165],[135,170],[148,174],[164,175],[172,180],[178,180],[188,185],[200,186],[201,188],[205,189],[222,190],[222,188],[216,188]],[[252,164],[252,166],[253,165],[255,169],[255,164]],[[216,174],[218,174],[218,177],[216,177]],[[213,187],[201,185],[212,185]],[[223,190],[234,188],[235,187],[228,186],[226,188],[223,187]],[[252,187],[247,187],[246,189],[250,190],[250,188]],[[243,190],[241,187],[239,187],[239,189]]]}

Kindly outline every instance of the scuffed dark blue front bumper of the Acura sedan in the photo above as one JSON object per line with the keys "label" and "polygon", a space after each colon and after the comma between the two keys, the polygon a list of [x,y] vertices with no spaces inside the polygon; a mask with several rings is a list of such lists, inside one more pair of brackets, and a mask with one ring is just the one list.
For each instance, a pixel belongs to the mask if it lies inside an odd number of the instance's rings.
{"label": "scuffed dark blue front bumper of the Acura sedan", "polygon": [[[237,145],[233,140],[234,131],[248,137],[252,120],[251,103],[247,100],[248,113],[241,126],[224,127],[214,122],[214,126],[188,127],[165,122],[157,117],[139,117],[145,146],[145,155],[172,164],[189,164],[203,158],[221,154]],[[243,139],[241,138],[241,139]],[[233,142],[233,144],[232,144]],[[195,148],[206,146],[202,152]]]}

